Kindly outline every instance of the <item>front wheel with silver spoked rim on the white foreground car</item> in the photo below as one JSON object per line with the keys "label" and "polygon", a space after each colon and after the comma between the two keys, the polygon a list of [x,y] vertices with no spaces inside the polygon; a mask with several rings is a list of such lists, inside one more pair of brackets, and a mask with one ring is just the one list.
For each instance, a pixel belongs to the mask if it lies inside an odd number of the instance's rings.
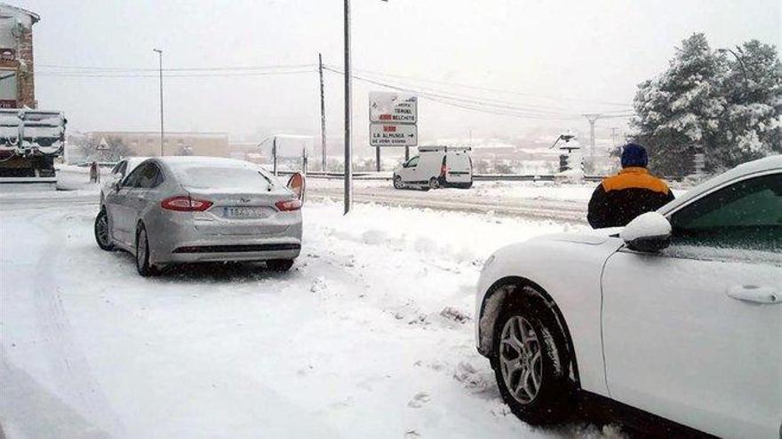
{"label": "front wheel with silver spoked rim on the white foreground car", "polygon": [[524,295],[500,311],[491,367],[503,400],[524,422],[557,424],[575,411],[566,343],[551,310],[537,296]]}

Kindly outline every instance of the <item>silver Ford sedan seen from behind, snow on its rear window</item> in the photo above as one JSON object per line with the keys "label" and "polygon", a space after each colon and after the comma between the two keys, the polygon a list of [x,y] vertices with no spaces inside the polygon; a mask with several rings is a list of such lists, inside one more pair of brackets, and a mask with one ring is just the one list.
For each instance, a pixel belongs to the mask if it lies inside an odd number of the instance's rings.
{"label": "silver Ford sedan seen from behind, snow on its rear window", "polygon": [[265,261],[289,270],[301,249],[303,184],[293,186],[247,161],[148,159],[101,200],[95,239],[135,255],[141,276],[171,263]]}

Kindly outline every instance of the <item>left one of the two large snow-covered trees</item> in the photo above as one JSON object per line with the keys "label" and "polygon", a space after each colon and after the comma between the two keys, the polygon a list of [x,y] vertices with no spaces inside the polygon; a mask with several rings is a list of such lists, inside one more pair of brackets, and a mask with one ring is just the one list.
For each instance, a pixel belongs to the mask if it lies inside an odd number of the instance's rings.
{"label": "left one of the two large snow-covered trees", "polygon": [[633,138],[647,147],[654,172],[689,174],[686,159],[714,147],[726,106],[719,84],[723,68],[706,36],[694,34],[676,49],[665,73],[639,84]]}

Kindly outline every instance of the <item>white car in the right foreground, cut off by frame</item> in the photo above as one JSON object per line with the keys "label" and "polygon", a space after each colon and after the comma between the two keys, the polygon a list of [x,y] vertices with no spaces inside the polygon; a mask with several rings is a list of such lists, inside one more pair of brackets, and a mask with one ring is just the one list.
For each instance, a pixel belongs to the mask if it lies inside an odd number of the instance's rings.
{"label": "white car in the right foreground, cut off by frame", "polygon": [[625,228],[499,249],[475,313],[478,350],[531,424],[608,405],[646,427],[779,438],[782,156]]}

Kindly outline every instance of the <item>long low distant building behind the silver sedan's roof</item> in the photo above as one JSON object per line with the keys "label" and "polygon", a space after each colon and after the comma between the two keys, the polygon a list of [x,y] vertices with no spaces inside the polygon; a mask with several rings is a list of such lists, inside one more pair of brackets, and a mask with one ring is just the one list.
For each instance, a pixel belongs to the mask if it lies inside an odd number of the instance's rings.
{"label": "long low distant building behind the silver sedan's roof", "polygon": [[[119,139],[132,155],[160,155],[160,132],[156,131],[92,131],[84,133],[85,141],[98,145],[102,139],[112,143]],[[207,155],[229,157],[227,133],[166,132],[163,155]]]}

